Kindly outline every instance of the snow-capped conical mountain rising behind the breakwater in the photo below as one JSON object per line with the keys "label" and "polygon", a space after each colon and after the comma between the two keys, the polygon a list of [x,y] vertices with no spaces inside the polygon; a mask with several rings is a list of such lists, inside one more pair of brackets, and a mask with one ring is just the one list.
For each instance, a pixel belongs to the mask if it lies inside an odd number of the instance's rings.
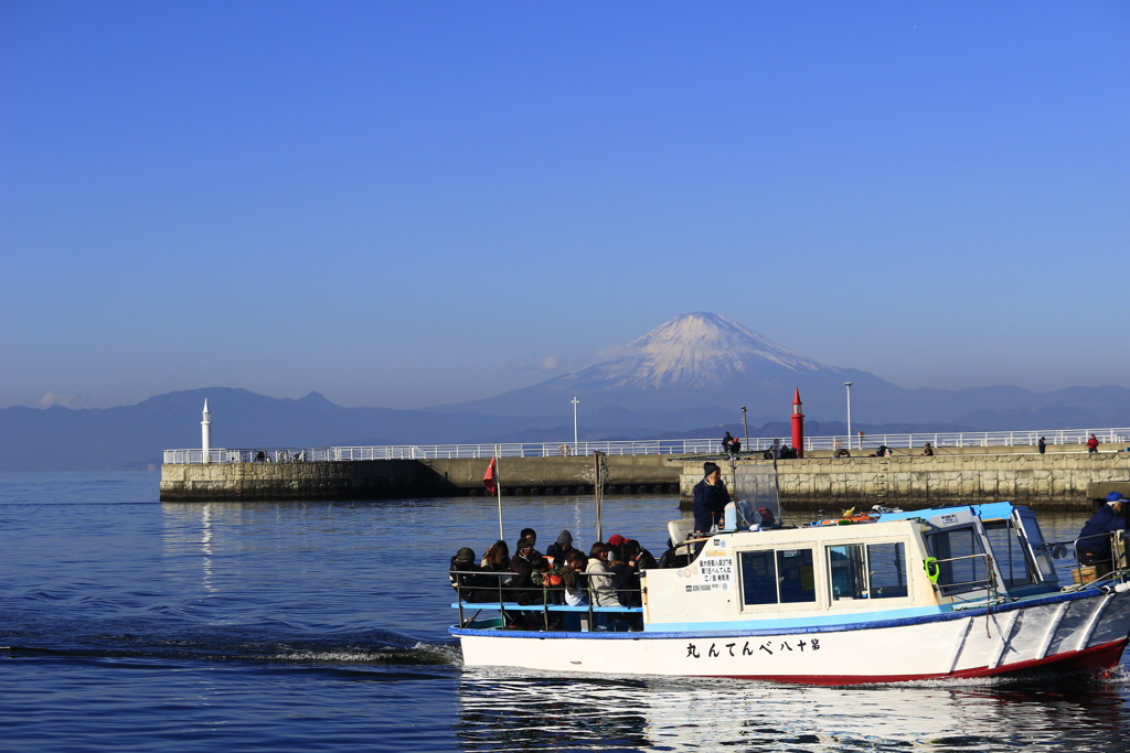
{"label": "snow-capped conical mountain rising behind the breakwater", "polygon": [[749,420],[763,421],[788,415],[796,387],[806,412],[809,404],[823,404],[829,417],[843,412],[844,382],[867,384],[872,394],[903,392],[871,374],[801,356],[720,314],[680,314],[606,352],[608,360],[588,368],[450,408],[546,417],[562,414],[577,396],[590,421],[623,424],[662,417],[669,422],[690,414],[714,421],[732,419],[741,405],[748,406]]}

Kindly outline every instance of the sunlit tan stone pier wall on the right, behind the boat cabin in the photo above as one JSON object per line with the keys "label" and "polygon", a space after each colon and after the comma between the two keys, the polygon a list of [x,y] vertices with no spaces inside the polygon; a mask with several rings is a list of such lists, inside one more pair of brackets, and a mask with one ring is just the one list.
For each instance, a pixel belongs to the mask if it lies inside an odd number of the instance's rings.
{"label": "sunlit tan stone pier wall on the right, behind the boat cabin", "polygon": [[[982,450],[984,452],[984,450]],[[736,474],[770,461],[720,463]],[[933,457],[806,457],[780,461],[781,500],[801,509],[881,504],[905,509],[1010,500],[1034,509],[1087,509],[1109,491],[1130,491],[1130,453],[951,454]],[[680,505],[693,505],[702,462],[685,463]],[[740,479],[739,479],[740,482]]]}

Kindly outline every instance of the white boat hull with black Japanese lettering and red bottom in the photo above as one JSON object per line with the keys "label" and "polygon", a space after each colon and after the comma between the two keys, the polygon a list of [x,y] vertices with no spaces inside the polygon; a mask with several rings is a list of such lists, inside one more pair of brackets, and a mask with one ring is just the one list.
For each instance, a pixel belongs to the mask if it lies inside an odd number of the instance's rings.
{"label": "white boat hull with black Japanese lettering and red bottom", "polygon": [[822,625],[695,632],[452,628],[466,666],[816,684],[1102,671],[1130,633],[1130,593],[1060,594],[992,610]]}

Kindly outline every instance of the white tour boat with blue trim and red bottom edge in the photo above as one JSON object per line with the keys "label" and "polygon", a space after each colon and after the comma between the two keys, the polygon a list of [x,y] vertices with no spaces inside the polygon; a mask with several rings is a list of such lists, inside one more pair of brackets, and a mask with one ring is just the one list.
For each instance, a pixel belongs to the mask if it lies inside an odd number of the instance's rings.
{"label": "white tour boat with blue trim and red bottom edge", "polygon": [[[766,529],[739,524],[750,507],[686,542],[686,567],[643,571],[642,606],[520,605],[501,586],[493,603],[460,599],[463,664],[834,685],[1102,672],[1127,647],[1130,571],[1062,584],[1063,552],[1026,507]],[[685,522],[669,528],[686,537]]]}

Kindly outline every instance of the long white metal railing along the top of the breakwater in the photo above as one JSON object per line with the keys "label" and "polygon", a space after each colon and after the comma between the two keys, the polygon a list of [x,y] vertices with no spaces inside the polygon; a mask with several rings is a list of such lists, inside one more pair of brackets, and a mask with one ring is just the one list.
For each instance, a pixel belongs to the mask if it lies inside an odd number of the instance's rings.
{"label": "long white metal railing along the top of the breakwater", "polygon": [[[886,445],[892,449],[921,448],[930,443],[940,447],[1017,447],[1035,446],[1041,437],[1049,446],[1083,445],[1090,435],[1105,449],[1130,446],[1130,428],[1052,429],[1048,431],[953,431],[929,434],[872,434],[862,437],[846,435],[806,437],[805,449],[849,449]],[[764,453],[791,438],[750,438],[742,454]],[[706,455],[722,452],[718,439],[637,439],[618,441],[547,441],[504,443],[501,445],[381,445],[374,447],[262,447],[252,449],[211,449],[208,463],[288,463],[324,461],[394,461],[490,457],[560,457],[566,455]],[[166,449],[165,464],[203,463],[201,449]]]}

